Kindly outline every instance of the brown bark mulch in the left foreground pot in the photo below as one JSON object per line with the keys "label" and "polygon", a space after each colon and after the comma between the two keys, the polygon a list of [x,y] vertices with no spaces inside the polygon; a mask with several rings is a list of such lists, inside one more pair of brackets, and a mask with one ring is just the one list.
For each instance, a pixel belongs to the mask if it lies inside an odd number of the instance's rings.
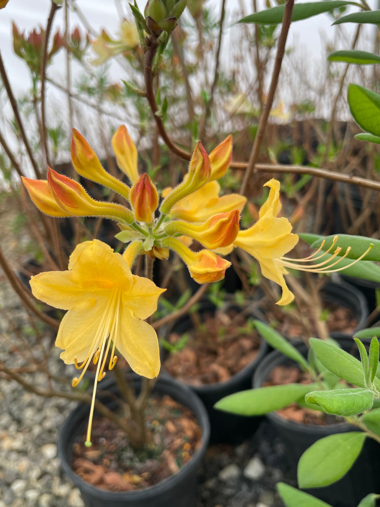
{"label": "brown bark mulch in the left foreground pot", "polygon": [[195,415],[168,395],[150,397],[145,423],[149,442],[136,451],[115,423],[94,418],[92,446],[85,446],[86,427],[73,444],[72,469],[103,490],[141,490],[176,474],[201,445],[202,430]]}

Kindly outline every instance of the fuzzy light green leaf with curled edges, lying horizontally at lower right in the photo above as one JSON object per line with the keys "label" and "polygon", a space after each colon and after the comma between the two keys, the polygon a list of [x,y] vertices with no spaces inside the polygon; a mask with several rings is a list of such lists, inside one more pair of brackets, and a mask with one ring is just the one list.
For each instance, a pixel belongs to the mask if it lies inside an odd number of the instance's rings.
{"label": "fuzzy light green leaf with curled edges, lying horizontally at lower right", "polygon": [[372,408],[373,391],[362,388],[313,391],[305,396],[305,401],[319,405],[327,414],[357,415]]}

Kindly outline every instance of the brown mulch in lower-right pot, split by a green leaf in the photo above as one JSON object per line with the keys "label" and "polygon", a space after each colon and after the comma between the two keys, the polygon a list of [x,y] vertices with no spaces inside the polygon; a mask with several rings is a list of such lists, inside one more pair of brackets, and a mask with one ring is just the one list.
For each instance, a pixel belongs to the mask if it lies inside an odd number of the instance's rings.
{"label": "brown mulch in lower-right pot, split by a green leaf", "polygon": [[[312,382],[314,382],[312,376],[307,372],[302,372],[296,366],[276,366],[272,370],[269,380],[264,382],[263,385],[284,385],[290,383],[311,384]],[[344,422],[343,417],[337,417],[320,412],[319,410],[301,407],[297,403],[292,403],[283,409],[277,410],[276,413],[288,421],[314,424],[317,426]]]}

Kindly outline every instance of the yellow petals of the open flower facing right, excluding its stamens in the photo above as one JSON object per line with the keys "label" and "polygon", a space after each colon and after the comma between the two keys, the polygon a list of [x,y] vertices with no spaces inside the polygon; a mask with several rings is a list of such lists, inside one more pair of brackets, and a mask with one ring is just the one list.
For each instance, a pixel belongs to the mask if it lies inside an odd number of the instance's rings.
{"label": "yellow petals of the open flower facing right, excluding its stamens", "polygon": [[293,301],[294,295],[285,283],[284,274],[287,271],[281,257],[297,244],[298,236],[291,233],[292,226],[288,219],[277,218],[281,210],[280,182],[271,179],[264,186],[271,190],[259,210],[258,221],[249,229],[240,231],[234,245],[257,259],[263,276],[281,285],[282,297],[277,304],[287,305]]}

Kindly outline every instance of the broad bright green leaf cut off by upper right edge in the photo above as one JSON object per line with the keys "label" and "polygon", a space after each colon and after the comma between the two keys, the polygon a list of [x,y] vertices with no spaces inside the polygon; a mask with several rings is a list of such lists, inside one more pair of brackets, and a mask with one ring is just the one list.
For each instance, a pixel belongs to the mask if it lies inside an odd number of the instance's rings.
{"label": "broad bright green leaf cut off by upper right edge", "polygon": [[350,84],[347,99],[351,114],[359,127],[365,132],[380,136],[380,95],[362,86]]}

